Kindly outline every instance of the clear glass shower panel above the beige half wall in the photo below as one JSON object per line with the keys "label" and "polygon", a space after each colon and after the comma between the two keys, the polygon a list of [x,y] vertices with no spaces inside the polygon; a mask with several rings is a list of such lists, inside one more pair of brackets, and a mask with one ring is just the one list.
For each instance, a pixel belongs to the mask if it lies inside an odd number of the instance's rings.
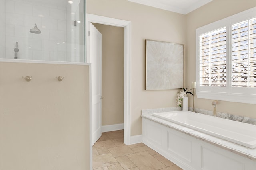
{"label": "clear glass shower panel above the beige half wall", "polygon": [[85,62],[85,0],[1,0],[0,58]]}

